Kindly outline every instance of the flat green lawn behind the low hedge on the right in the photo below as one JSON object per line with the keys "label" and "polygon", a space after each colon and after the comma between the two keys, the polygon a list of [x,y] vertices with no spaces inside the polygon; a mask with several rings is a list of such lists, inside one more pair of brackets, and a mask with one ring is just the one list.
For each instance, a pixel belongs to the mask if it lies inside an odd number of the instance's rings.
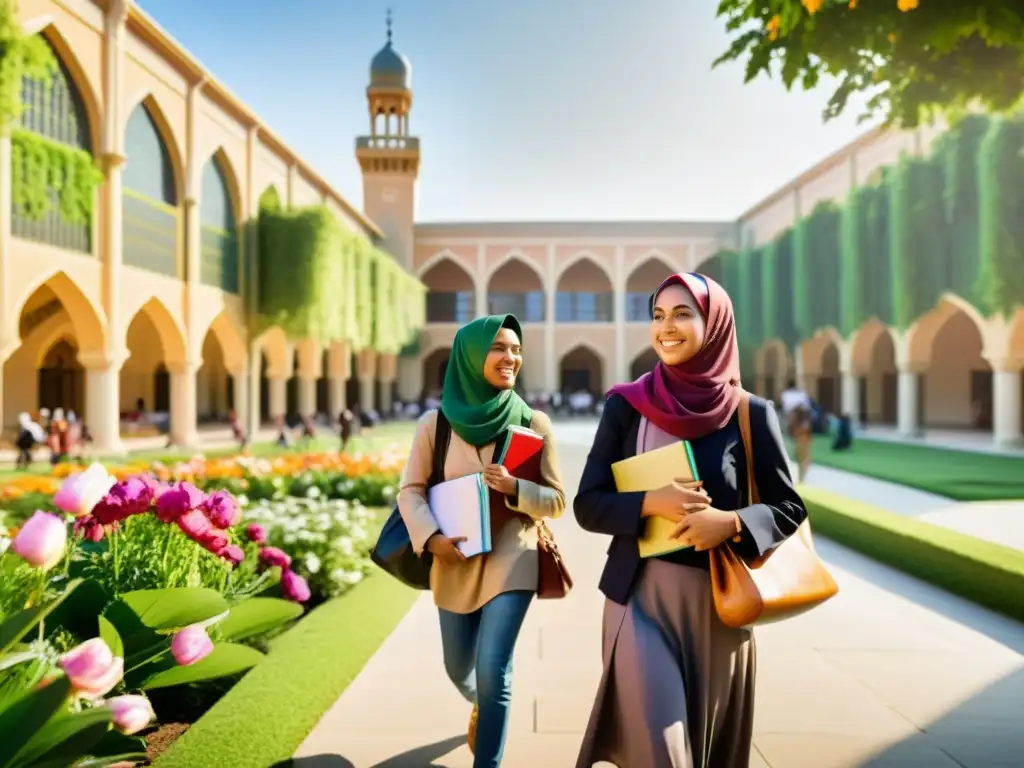
{"label": "flat green lawn behind the low hedge on the right", "polygon": [[957,501],[1024,499],[1024,459],[1015,457],[868,439],[833,452],[830,438],[820,436],[813,461]]}

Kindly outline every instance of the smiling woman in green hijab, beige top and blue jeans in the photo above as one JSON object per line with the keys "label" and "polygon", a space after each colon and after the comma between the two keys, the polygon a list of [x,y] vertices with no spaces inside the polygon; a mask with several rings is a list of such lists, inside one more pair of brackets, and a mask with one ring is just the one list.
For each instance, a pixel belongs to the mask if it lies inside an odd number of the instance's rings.
{"label": "smiling woman in green hijab, beige top and blue jeans", "polygon": [[[438,412],[420,419],[398,494],[418,554],[434,555],[430,589],[440,613],[444,669],[473,705],[468,742],[474,768],[501,765],[512,696],[512,653],[538,588],[537,523],[565,507],[547,416],[515,392],[522,367],[522,329],[512,314],[479,317],[459,330],[444,373],[440,414],[451,425],[444,479],[482,473],[504,497],[492,504],[490,552],[466,558],[459,538],[440,534],[427,504]],[[516,479],[493,462],[509,427],[528,425],[544,437],[541,481]],[[443,450],[443,449],[442,449]]]}

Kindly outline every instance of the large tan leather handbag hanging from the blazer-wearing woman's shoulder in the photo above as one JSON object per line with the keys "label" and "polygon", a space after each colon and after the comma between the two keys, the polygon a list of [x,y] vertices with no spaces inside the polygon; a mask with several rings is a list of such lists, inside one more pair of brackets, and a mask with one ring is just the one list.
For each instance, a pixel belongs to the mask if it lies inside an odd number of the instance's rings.
{"label": "large tan leather handbag hanging from the blazer-wearing woman's shoulder", "polygon": [[[754,479],[751,400],[739,401],[739,434],[746,456],[750,504],[758,504]],[[748,565],[723,544],[711,551],[711,586],[722,624],[740,628],[790,618],[820,605],[839,592],[839,585],[814,551],[810,520],[764,557]]]}

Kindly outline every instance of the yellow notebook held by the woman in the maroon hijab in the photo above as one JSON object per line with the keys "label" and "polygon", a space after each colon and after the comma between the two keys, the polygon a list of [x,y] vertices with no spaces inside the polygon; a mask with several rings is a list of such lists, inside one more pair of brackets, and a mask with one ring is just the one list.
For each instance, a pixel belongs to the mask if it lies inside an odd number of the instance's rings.
{"label": "yellow notebook held by the woman in the maroon hijab", "polygon": [[[633,490],[655,490],[675,479],[698,480],[693,449],[687,440],[673,442],[656,451],[623,459],[611,465],[615,488],[623,494]],[[640,557],[656,557],[687,549],[678,539],[672,539],[676,525],[664,517],[648,517],[647,529],[640,540]]]}

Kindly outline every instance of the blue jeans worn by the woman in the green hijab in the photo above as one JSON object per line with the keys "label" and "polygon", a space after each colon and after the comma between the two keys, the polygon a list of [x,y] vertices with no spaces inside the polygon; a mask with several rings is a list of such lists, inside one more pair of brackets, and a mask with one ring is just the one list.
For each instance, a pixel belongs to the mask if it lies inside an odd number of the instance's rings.
{"label": "blue jeans worn by the woman in the green hijab", "polygon": [[498,768],[512,700],[512,652],[534,593],[503,592],[472,613],[440,609],[444,671],[479,707],[473,768]]}

